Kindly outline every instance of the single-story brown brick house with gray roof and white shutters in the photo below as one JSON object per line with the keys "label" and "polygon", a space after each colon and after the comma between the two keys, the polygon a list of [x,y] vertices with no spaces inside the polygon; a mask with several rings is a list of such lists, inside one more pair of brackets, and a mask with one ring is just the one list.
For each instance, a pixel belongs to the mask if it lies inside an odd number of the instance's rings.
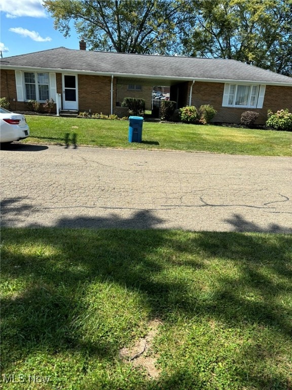
{"label": "single-story brown brick house with gray roof and white shutters", "polygon": [[[292,111],[292,78],[230,59],[142,55],[59,47],[0,59],[0,96],[10,110],[52,98],[60,110],[123,116],[124,97],[151,99],[154,86],[170,86],[177,108],[212,105],[214,122],[239,123],[244,111]],[[147,103],[149,106],[149,102]]]}

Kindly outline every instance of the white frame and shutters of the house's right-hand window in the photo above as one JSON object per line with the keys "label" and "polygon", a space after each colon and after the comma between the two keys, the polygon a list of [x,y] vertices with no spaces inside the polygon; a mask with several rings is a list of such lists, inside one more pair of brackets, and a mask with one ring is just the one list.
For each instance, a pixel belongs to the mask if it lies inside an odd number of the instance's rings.
{"label": "white frame and shutters of the house's right-hand window", "polygon": [[[247,105],[238,105],[236,100],[238,99],[237,93],[240,86],[249,87]],[[234,88],[233,88],[234,87]],[[256,87],[255,94],[252,93]],[[223,107],[234,107],[234,108],[263,108],[264,96],[265,96],[265,85],[260,84],[249,84],[249,83],[226,83],[224,88],[223,96]],[[233,92],[233,93],[231,93]],[[251,99],[254,98],[254,105],[251,105]],[[232,103],[230,103],[232,100]]]}

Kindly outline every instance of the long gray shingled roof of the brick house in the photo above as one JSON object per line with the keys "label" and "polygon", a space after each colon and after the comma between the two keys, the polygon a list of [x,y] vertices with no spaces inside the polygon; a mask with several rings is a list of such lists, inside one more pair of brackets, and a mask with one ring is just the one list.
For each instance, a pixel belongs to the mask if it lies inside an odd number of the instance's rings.
{"label": "long gray shingled roof of the brick house", "polygon": [[159,56],[72,50],[64,47],[6,57],[3,69],[36,68],[52,71],[77,71],[128,78],[204,81],[254,81],[291,85],[292,78],[253,67],[232,59]]}

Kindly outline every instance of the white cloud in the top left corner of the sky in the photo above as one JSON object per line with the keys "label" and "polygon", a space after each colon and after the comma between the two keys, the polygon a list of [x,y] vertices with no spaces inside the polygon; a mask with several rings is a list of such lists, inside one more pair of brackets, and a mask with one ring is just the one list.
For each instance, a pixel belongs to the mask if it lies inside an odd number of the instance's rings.
{"label": "white cloud in the top left corner of the sky", "polygon": [[46,18],[43,0],[1,0],[0,11],[7,18],[30,16],[32,18]]}

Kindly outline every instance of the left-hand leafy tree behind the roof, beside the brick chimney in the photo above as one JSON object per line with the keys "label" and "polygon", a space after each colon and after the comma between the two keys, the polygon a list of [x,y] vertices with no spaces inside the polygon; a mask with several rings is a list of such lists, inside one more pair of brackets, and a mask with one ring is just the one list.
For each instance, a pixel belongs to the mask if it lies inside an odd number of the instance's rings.
{"label": "left-hand leafy tree behind the roof, beside the brick chimney", "polygon": [[54,27],[69,36],[70,22],[91,50],[166,54],[176,44],[180,1],[45,0]]}

